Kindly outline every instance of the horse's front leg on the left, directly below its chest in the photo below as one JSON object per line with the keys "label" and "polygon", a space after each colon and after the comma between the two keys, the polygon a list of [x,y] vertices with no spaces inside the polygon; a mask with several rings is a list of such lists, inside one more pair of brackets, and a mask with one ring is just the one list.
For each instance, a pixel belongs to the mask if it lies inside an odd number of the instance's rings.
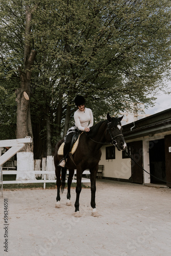
{"label": "horse's front leg on the left, directly below its chest", "polygon": [[81,193],[81,179],[82,179],[82,172],[81,170],[77,169],[77,185],[76,185],[76,201],[75,201],[74,217],[81,217],[81,214],[79,211],[79,195]]}

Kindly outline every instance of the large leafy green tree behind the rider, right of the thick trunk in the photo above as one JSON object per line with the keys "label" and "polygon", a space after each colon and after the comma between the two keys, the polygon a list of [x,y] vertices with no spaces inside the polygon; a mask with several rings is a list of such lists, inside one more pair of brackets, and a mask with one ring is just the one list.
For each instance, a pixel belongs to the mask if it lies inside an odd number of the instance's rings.
{"label": "large leafy green tree behind the rider, right of the thick trunk", "polygon": [[170,3],[57,1],[50,19],[52,3],[44,3],[35,37],[41,55],[48,56],[41,74],[53,92],[56,135],[61,125],[67,132],[77,93],[87,98],[98,120],[108,111],[130,109],[130,103],[150,104],[149,94],[163,89],[162,77],[170,67]]}

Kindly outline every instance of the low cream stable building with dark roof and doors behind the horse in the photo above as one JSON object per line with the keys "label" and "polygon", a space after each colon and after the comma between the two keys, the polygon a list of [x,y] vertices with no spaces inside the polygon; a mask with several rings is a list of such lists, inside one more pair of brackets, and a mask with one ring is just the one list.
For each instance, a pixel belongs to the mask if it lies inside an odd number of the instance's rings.
{"label": "low cream stable building with dark roof and doors behind the horse", "polygon": [[105,145],[103,178],[171,187],[171,109],[123,125],[127,153]]}

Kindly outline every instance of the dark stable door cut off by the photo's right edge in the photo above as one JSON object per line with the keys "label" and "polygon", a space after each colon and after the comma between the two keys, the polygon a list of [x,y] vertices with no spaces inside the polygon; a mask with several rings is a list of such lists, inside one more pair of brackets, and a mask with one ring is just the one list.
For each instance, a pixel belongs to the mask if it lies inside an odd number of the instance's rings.
{"label": "dark stable door cut off by the photo's right edge", "polygon": [[[171,187],[171,135],[164,136],[166,185]],[[169,182],[169,183],[167,183]]]}

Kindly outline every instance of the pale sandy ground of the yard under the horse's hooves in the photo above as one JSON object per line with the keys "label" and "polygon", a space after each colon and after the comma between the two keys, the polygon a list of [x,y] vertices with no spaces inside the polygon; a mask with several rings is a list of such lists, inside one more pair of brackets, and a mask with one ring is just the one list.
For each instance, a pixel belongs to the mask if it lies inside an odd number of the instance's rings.
{"label": "pale sandy ground of the yard under the horse's hooves", "polygon": [[[171,189],[97,180],[99,217],[91,216],[90,188],[81,191],[81,218],[73,216],[75,188],[71,190],[72,206],[66,206],[66,196],[67,189],[57,209],[56,189],[4,190],[0,255],[171,254]],[[9,225],[4,223],[7,201]],[[8,242],[8,252],[4,242]]]}

